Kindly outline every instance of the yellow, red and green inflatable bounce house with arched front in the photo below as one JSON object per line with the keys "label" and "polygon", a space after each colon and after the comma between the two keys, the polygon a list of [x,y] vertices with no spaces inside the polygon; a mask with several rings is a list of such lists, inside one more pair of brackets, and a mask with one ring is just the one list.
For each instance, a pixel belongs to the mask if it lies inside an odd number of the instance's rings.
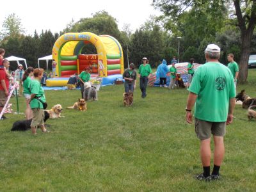
{"label": "yellow, red and green inflatable bounce house with arched front", "polygon": [[[81,54],[84,46],[93,44],[97,54]],[[66,33],[52,48],[57,77],[47,79],[46,86],[67,86],[68,78],[90,68],[91,79],[100,79],[102,85],[113,84],[122,78],[124,56],[120,43],[109,35],[97,36],[90,32]]]}

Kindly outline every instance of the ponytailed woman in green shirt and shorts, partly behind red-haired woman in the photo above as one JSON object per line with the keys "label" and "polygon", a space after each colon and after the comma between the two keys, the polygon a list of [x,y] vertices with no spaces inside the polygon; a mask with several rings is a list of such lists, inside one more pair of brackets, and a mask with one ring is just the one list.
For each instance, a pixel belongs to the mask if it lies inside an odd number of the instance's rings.
{"label": "ponytailed woman in green shirt and shorts, partly behind red-haired woman", "polygon": [[29,100],[31,97],[31,92],[30,92],[30,83],[31,83],[31,77],[33,76],[34,68],[33,67],[28,67],[27,70],[25,70],[24,75],[22,77],[22,82],[23,82],[23,95],[26,99],[26,110],[25,110],[25,116],[26,119],[31,119],[33,116],[33,112],[30,108],[29,105]]}

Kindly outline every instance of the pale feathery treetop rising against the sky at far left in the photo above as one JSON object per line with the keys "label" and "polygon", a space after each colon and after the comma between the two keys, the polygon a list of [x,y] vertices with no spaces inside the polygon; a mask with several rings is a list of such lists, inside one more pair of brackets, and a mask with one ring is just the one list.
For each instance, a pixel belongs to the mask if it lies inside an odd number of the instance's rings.
{"label": "pale feathery treetop rising against the sky at far left", "polygon": [[24,34],[20,18],[11,13],[3,22],[3,32],[0,33],[1,40],[7,37],[19,37]]}

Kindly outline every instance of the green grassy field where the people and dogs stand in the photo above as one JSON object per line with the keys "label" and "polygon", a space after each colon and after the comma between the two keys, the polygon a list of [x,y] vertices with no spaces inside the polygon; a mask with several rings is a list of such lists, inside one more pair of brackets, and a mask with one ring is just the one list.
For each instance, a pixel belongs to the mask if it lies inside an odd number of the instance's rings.
{"label": "green grassy field where the people and dogs stand", "polygon": [[[256,97],[256,69],[237,91]],[[86,112],[64,109],[65,118],[47,121],[51,132],[11,132],[24,115],[0,122],[0,191],[255,191],[256,120],[236,106],[227,127],[221,180],[200,182],[200,142],[186,124],[188,91],[147,90],[124,108],[124,86],[101,87]],[[49,106],[72,106],[79,90],[45,91]],[[20,97],[20,111],[24,98]],[[16,110],[15,99],[11,100]]]}

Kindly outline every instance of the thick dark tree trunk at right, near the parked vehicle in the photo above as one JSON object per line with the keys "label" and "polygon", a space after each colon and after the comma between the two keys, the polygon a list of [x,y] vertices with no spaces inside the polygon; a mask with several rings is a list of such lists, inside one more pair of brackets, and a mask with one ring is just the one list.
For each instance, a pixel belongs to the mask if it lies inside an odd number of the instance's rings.
{"label": "thick dark tree trunk at right, near the parked vehicle", "polygon": [[251,40],[253,31],[246,30],[241,33],[241,58],[239,61],[239,83],[246,83],[248,76],[248,60],[251,51]]}

